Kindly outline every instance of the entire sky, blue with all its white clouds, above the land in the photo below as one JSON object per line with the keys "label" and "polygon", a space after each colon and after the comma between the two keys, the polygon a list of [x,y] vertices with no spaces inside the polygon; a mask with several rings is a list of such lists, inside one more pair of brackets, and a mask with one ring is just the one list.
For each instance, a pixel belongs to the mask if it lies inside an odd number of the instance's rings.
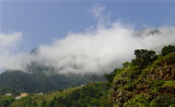
{"label": "entire sky, blue with all its white clouds, above the land", "polygon": [[135,49],[175,45],[174,13],[173,0],[0,0],[0,72],[33,61],[60,73],[112,71]]}

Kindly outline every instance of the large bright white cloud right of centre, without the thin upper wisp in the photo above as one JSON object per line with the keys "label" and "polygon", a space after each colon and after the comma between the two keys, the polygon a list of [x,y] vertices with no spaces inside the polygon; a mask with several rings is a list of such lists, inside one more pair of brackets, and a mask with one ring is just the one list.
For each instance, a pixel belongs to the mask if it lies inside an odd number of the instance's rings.
{"label": "large bright white cloud right of centre, without the thin upper wisp", "polygon": [[[175,27],[137,32],[115,24],[93,33],[70,34],[50,46],[40,46],[39,56],[45,64],[60,73],[108,72],[133,58],[135,49],[156,49],[175,44]],[[139,35],[138,35],[139,34]]]}

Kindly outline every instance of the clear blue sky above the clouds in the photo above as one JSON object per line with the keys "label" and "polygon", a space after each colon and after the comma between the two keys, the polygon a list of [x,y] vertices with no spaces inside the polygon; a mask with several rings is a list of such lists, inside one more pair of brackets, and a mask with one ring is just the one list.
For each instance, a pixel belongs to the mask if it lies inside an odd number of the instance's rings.
{"label": "clear blue sky above the clouds", "polygon": [[137,28],[175,25],[175,2],[170,0],[1,0],[0,3],[0,32],[22,32],[20,49],[24,51],[50,44],[69,32],[79,33],[95,26],[97,21],[90,11],[95,4],[112,13],[110,21],[120,20]]}

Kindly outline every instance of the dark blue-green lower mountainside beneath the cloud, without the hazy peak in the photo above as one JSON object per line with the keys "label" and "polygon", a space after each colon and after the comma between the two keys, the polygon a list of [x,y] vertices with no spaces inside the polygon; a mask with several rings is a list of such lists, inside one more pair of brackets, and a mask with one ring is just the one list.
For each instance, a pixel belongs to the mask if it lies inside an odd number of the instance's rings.
{"label": "dark blue-green lower mountainside beneath the cloud, without the hazy peak", "polygon": [[44,72],[25,73],[22,71],[5,71],[0,74],[0,93],[58,91],[102,80],[102,75],[94,74],[46,75]]}

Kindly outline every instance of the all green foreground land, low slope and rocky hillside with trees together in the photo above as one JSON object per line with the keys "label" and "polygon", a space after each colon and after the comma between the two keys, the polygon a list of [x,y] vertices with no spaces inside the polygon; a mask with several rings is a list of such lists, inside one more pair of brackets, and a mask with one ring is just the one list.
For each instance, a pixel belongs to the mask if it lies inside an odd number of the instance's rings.
{"label": "all green foreground land, low slope and rocky hillside with trees together", "polygon": [[[1,96],[5,107],[175,107],[175,46],[161,54],[137,49],[136,58],[94,82],[44,95],[30,94],[19,100]],[[95,75],[91,78],[95,79]],[[13,91],[14,93],[14,91]]]}

